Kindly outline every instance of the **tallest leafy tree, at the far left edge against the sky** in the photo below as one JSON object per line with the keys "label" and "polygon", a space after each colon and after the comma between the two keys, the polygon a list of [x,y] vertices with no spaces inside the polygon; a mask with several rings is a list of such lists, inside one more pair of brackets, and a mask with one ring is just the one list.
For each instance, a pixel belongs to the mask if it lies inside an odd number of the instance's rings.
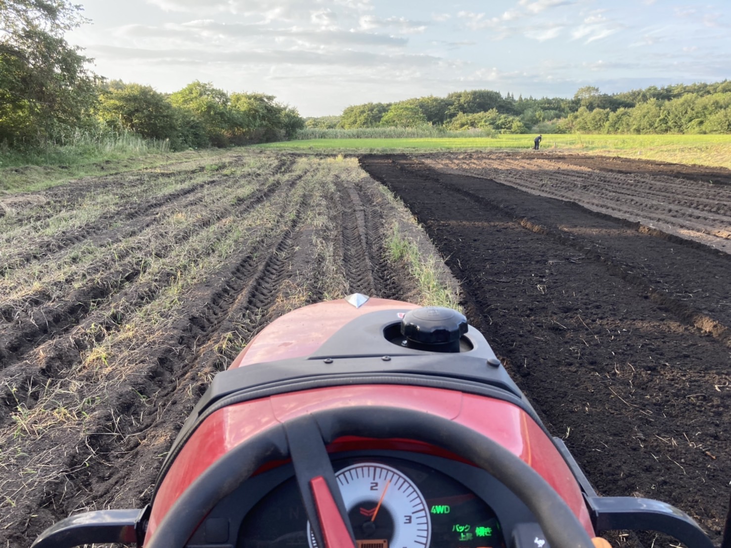
{"label": "tallest leafy tree, at the far left edge against the sky", "polygon": [[90,60],[64,39],[84,22],[80,10],[66,0],[0,0],[0,141],[43,142],[89,119]]}

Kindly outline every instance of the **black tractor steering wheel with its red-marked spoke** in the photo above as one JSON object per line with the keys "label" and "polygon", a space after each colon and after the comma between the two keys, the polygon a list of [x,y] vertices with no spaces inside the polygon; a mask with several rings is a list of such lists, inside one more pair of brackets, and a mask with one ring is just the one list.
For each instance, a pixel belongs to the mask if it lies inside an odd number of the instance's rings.
{"label": "black tractor steering wheel with its red-marked spoke", "polygon": [[[326,480],[328,476],[334,480],[325,444],[344,435],[404,438],[446,449],[474,463],[510,489],[533,512],[552,547],[594,548],[588,533],[564,499],[520,457],[496,441],[449,419],[423,411],[385,406],[315,411],[252,436],[213,463],[183,492],[145,548],[185,547],[216,503],[270,460],[292,458],[300,494],[308,506],[313,495],[307,486],[318,475],[317,471]],[[311,476],[306,477],[309,474]],[[332,485],[336,484],[328,484],[336,503],[340,501],[341,520],[349,530],[340,493],[335,492],[337,487],[333,491]],[[313,517],[310,517],[310,522],[316,523]],[[319,536],[319,528],[314,529]],[[318,546],[324,546],[322,541],[318,542]]]}

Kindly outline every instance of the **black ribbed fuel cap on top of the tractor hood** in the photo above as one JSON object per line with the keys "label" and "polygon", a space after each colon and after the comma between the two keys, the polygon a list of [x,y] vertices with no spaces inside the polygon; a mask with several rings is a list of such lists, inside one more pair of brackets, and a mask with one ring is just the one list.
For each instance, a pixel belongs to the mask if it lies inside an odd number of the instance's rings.
{"label": "black ribbed fuel cap on top of the tractor hood", "polygon": [[408,346],[436,352],[458,352],[459,340],[467,332],[467,319],[443,306],[414,308],[401,320],[401,335]]}

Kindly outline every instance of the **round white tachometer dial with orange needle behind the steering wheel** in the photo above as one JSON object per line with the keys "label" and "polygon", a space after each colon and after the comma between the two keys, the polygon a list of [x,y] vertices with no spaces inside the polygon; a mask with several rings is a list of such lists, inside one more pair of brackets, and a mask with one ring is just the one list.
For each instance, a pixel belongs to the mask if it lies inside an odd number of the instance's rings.
{"label": "round white tachometer dial with orange needle behind the steering wheel", "polygon": [[[385,464],[359,463],[335,475],[358,548],[425,548],[431,519],[423,495],[403,473]],[[311,548],[317,541],[307,523]]]}

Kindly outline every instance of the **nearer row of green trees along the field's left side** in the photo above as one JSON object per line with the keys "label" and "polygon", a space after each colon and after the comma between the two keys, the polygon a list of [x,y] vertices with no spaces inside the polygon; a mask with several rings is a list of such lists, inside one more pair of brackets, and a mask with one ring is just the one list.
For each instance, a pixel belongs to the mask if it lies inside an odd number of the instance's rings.
{"label": "nearer row of green trees along the field's left side", "polygon": [[173,150],[292,137],[298,111],[268,94],[195,81],[173,94],[107,81],[64,33],[86,22],[68,0],[0,0],[0,147],[61,144],[75,132],[134,132]]}

